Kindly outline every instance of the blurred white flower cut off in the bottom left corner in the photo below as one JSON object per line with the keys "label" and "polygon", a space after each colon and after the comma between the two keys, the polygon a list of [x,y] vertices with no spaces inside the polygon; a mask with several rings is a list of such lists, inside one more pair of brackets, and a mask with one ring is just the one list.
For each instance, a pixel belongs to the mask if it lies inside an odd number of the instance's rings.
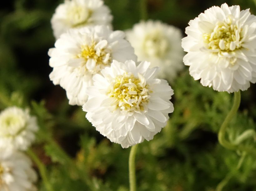
{"label": "blurred white flower cut off in the bottom left corner", "polygon": [[0,149],[0,191],[36,191],[37,175],[21,152]]}

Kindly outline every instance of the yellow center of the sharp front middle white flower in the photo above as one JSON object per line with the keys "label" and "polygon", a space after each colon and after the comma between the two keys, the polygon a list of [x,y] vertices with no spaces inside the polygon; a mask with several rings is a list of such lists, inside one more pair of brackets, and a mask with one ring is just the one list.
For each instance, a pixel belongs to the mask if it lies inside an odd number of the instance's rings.
{"label": "yellow center of the sharp front middle white flower", "polygon": [[132,73],[118,75],[112,83],[110,97],[116,98],[117,107],[122,111],[143,111],[143,105],[148,102],[148,85],[144,77],[138,74],[134,77]]}

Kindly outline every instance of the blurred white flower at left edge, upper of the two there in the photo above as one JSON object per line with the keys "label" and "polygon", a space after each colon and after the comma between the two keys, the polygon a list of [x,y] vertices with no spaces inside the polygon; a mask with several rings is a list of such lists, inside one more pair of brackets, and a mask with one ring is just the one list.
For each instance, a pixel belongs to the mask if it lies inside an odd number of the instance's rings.
{"label": "blurred white flower at left edge, upper of the two there", "polygon": [[36,117],[16,106],[0,113],[0,148],[26,150],[35,140]]}

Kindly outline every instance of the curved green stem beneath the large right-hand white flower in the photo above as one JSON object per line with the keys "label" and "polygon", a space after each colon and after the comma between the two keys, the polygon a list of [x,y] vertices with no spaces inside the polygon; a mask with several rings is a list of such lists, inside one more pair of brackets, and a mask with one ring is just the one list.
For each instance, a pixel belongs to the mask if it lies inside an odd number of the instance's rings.
{"label": "curved green stem beneath the large right-hand white flower", "polygon": [[226,129],[228,127],[228,124],[230,123],[230,121],[232,120],[232,118],[235,116],[239,106],[240,106],[240,101],[241,101],[241,94],[240,91],[235,92],[235,98],[234,98],[234,104],[232,106],[232,109],[230,110],[230,112],[228,113],[228,115],[226,116],[224,122],[222,123],[221,127],[220,127],[220,131],[218,133],[218,140],[220,142],[220,144],[230,150],[236,150],[237,146],[231,144],[230,142],[228,142],[225,139],[225,134],[226,134]]}

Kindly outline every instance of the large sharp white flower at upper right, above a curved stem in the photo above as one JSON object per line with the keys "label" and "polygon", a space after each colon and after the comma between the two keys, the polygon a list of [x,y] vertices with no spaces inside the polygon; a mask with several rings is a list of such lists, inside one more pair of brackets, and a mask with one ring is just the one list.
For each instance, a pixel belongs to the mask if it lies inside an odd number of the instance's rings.
{"label": "large sharp white flower at upper right, above a curved stem", "polygon": [[213,6],[189,22],[185,65],[204,86],[228,93],[256,82],[256,16],[239,6]]}

